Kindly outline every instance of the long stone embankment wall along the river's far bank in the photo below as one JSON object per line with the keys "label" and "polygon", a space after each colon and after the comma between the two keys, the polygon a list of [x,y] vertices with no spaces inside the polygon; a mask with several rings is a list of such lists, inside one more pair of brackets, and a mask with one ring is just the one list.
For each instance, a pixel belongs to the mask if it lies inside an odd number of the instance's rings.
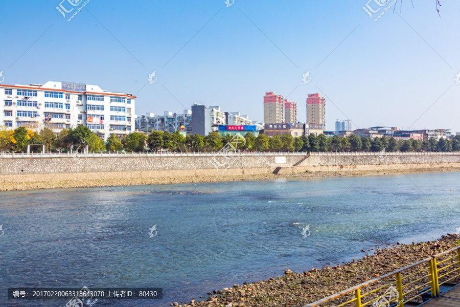
{"label": "long stone embankment wall along the river's far bank", "polygon": [[[62,181],[114,178],[163,178],[188,176],[236,176],[306,171],[407,170],[444,167],[460,168],[460,153],[312,153],[305,155],[155,156],[128,154],[87,157],[44,155],[0,157],[1,182]],[[40,156],[40,155],[38,155]],[[300,162],[302,159],[304,161]],[[300,162],[300,163],[299,163]],[[294,166],[297,164],[296,166]],[[218,168],[216,168],[218,166]]]}

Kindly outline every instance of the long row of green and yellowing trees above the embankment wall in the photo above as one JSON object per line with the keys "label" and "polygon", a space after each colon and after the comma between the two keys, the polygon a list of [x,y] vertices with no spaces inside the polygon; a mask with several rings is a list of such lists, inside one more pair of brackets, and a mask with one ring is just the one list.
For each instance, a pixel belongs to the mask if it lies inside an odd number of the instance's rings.
{"label": "long row of green and yellowing trees above the embankment wall", "polygon": [[[293,137],[290,134],[267,137],[260,134],[258,137],[250,133],[244,136],[245,142],[240,142],[237,149],[240,151],[459,151],[460,135],[453,140],[435,138],[424,140],[396,140],[394,137],[376,137],[374,139],[356,135],[347,137],[326,137],[324,134],[315,136]],[[73,145],[74,151],[83,151],[88,146],[89,152],[101,151],[170,151],[170,152],[216,152],[225,144],[231,143],[231,135],[220,136],[212,132],[208,136],[198,134],[182,136],[179,131],[170,134],[168,131],[152,131],[150,135],[132,132],[120,138],[111,134],[104,142],[86,126],[62,129],[54,133],[44,127],[35,131],[30,127],[17,127],[14,130],[0,127],[0,150],[2,152],[24,152],[28,144],[45,145],[47,152],[66,152]],[[31,147],[31,151],[40,152],[41,146]]]}

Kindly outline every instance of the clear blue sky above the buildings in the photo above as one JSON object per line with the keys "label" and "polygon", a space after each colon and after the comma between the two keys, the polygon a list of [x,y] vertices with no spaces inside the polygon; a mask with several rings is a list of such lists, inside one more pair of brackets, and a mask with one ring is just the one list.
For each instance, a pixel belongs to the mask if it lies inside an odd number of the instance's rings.
{"label": "clear blue sky above the buildings", "polygon": [[[320,93],[329,130],[350,118],[360,128],[460,132],[460,3],[440,0],[439,17],[435,0],[414,8],[398,0],[395,13],[374,21],[366,2],[91,0],[67,21],[60,0],[4,0],[0,71],[3,84],[73,81],[137,93],[138,115],[200,103],[262,121],[263,96],[274,91],[297,102],[305,121],[307,94]],[[376,2],[378,13],[391,3]]]}

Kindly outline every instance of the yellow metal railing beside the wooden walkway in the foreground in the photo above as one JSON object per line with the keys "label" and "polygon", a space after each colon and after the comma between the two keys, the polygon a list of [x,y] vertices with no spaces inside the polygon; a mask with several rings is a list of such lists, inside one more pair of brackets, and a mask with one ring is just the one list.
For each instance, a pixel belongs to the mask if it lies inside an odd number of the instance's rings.
{"label": "yellow metal railing beside the wooden walkway in the foreground", "polygon": [[427,293],[431,298],[439,296],[440,286],[455,278],[460,278],[460,247],[433,255],[304,307],[326,306],[328,302],[334,302],[336,307],[404,307],[404,302],[408,301],[421,303],[421,297]]}

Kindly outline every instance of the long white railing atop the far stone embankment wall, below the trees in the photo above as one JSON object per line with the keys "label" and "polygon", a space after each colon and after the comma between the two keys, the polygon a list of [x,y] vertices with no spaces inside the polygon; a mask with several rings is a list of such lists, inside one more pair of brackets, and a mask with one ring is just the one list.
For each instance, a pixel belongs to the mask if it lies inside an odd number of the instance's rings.
{"label": "long white railing atop the far stone embankment wall, below the trees", "polygon": [[[214,157],[219,155],[217,152],[89,152],[89,153],[70,153],[70,152],[51,152],[51,153],[4,153],[0,158],[108,158],[108,157]],[[305,156],[306,152],[237,152],[228,156],[243,157],[269,157],[269,156]],[[310,156],[452,156],[460,155],[459,151],[432,152],[310,152]]]}

